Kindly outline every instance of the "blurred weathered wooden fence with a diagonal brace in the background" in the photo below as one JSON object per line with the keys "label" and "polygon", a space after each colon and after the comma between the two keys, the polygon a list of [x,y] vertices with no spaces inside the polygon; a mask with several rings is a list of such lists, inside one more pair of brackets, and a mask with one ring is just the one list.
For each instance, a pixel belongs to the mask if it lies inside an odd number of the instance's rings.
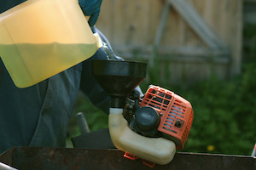
{"label": "blurred weathered wooden fence with a diagonal brace in the background", "polygon": [[170,83],[241,70],[242,0],[103,0],[96,26],[115,54]]}

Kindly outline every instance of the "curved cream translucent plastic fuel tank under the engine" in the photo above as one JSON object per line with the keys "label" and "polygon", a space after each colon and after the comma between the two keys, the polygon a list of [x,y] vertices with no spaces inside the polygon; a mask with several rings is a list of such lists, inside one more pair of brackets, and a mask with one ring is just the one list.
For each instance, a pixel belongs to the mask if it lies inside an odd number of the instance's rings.
{"label": "curved cream translucent plastic fuel tank under the engine", "polygon": [[172,161],[176,145],[171,140],[148,138],[134,133],[122,115],[122,109],[110,108],[109,113],[109,133],[113,144],[119,150],[160,165]]}

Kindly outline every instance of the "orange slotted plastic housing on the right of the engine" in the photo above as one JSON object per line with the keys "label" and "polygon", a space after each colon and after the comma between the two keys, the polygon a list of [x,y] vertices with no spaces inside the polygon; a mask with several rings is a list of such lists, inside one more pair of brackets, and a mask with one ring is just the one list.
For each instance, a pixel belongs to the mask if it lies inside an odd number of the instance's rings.
{"label": "orange slotted plastic housing on the right of the engine", "polygon": [[165,88],[150,86],[140,106],[153,107],[159,113],[158,131],[164,138],[172,140],[177,150],[182,150],[194,118],[189,101]]}

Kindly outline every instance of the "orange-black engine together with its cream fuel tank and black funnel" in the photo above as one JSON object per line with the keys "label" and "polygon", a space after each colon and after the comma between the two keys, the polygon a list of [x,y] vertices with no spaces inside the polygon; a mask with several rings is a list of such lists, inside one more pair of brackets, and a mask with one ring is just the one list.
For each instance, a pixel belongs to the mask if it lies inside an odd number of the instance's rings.
{"label": "orange-black engine together with its cream fuel tank and black funnel", "polygon": [[139,93],[136,87],[145,79],[145,63],[95,60],[92,73],[111,97],[108,127],[116,148],[131,160],[142,158],[149,167],[172,161],[193,122],[189,101],[154,85]]}

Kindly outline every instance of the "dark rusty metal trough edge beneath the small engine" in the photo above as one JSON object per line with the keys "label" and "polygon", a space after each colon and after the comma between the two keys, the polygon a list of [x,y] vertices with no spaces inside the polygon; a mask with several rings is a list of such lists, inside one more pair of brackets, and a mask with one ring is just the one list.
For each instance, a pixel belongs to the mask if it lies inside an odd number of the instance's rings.
{"label": "dark rusty metal trough edge beneath the small engine", "polygon": [[177,153],[171,163],[146,167],[142,160],[131,161],[119,150],[15,147],[0,156],[0,161],[18,169],[103,169],[103,170],[255,170],[251,156],[225,156]]}

